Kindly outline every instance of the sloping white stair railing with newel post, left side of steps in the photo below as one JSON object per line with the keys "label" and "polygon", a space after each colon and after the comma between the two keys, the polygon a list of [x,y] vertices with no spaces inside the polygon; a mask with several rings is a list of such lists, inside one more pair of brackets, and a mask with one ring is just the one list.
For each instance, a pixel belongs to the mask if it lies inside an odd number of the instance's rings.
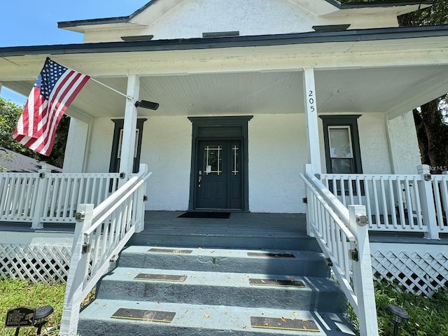
{"label": "sloping white stair railing with newel post, left side of steps", "polygon": [[146,165],[104,202],[80,204],[71,250],[69,279],[59,335],[76,335],[81,302],[109,272],[111,262],[134,232],[144,230]]}

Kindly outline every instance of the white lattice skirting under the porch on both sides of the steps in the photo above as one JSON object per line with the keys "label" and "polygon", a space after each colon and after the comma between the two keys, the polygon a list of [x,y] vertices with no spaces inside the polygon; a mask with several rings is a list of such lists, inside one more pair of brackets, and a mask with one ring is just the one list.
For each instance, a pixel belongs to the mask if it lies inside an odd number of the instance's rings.
{"label": "white lattice skirting under the porch on both sides of the steps", "polygon": [[[71,246],[0,244],[0,277],[65,283]],[[448,286],[448,246],[371,243],[374,279],[397,281],[412,293]]]}

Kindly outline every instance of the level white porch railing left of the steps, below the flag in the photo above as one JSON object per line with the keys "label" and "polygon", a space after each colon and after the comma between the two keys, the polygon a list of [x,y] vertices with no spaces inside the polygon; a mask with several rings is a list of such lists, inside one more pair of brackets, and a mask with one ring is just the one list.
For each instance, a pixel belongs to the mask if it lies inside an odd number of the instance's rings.
{"label": "level white porch railing left of the steps, below the flag", "polygon": [[118,173],[62,174],[42,169],[38,173],[0,174],[0,221],[74,223],[78,204],[99,204],[116,190]]}

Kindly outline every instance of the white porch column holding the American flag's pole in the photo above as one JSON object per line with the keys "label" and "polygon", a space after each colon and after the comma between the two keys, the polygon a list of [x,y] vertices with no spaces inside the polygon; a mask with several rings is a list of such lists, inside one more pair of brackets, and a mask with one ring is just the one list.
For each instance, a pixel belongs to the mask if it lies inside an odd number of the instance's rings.
{"label": "white porch column holding the American flag's pole", "polygon": [[[139,99],[140,78],[137,75],[127,77],[127,97]],[[126,99],[123,139],[121,141],[120,173],[125,173],[124,181],[129,179],[134,165],[135,130],[137,128],[137,107],[135,100]],[[120,180],[123,182],[123,180]],[[120,183],[122,184],[122,183]]]}

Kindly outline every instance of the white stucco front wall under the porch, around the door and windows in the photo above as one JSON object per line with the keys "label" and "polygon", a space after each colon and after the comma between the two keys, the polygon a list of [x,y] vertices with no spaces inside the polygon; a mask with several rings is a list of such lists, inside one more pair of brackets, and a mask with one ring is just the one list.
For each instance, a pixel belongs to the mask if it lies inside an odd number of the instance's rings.
{"label": "white stucco front wall under the porch, around the door and windows", "polygon": [[[401,118],[401,117],[400,117]],[[387,122],[382,113],[364,113],[358,118],[361,160],[365,174],[391,174],[388,124],[393,129],[394,155],[404,160],[405,148],[414,139],[404,116]],[[304,114],[255,114],[248,122],[248,202],[251,212],[304,213],[304,186],[299,173],[307,163],[307,133]],[[323,172],[323,130],[319,118]],[[114,124],[109,118],[92,123],[87,172],[108,172]],[[409,132],[407,132],[409,129]],[[141,163],[153,175],[148,179],[148,210],[183,211],[190,197],[192,124],[186,116],[148,117],[144,123]],[[409,140],[410,139],[410,140]],[[412,146],[411,146],[412,145]],[[401,156],[400,156],[401,153]],[[418,158],[418,156],[417,156]],[[410,167],[414,167],[411,165]],[[411,168],[412,169],[412,168]]]}

